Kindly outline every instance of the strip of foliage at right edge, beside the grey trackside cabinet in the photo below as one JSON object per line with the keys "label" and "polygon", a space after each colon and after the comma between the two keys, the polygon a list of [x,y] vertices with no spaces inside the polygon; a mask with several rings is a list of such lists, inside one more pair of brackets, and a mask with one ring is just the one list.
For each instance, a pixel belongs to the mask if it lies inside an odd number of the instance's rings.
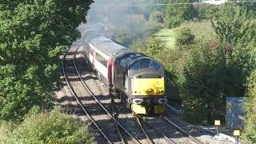
{"label": "strip of foliage at right edge, beside the grey trackside cabinet", "polygon": [[246,123],[242,133],[242,143],[256,143],[256,70],[252,72],[248,80],[246,101],[244,110],[246,111]]}

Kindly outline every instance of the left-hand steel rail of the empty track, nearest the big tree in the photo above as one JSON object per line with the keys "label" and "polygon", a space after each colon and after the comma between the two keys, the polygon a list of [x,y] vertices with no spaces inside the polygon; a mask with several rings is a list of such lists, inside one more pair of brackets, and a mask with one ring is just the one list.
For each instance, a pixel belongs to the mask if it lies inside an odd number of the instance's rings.
{"label": "left-hand steel rail of the empty track, nearest the big tree", "polygon": [[69,82],[68,78],[66,77],[66,72],[65,72],[65,64],[64,64],[65,58],[66,58],[66,54],[64,54],[63,59],[62,59],[62,74],[63,74],[63,76],[64,76],[64,78],[65,78],[65,80],[66,80],[66,85],[69,87],[71,94],[72,94],[72,95],[74,96],[74,98],[77,100],[79,106],[82,107],[82,110],[86,113],[87,118],[89,118],[90,121],[94,123],[94,126],[100,131],[100,133],[101,133],[101,134],[103,135],[103,137],[107,140],[107,142],[113,144],[113,142],[111,142],[110,139],[107,138],[106,134],[101,130],[101,128],[100,128],[100,127],[97,125],[97,123],[94,121],[94,118],[92,118],[92,117],[90,116],[90,114],[88,113],[88,111],[86,110],[86,108],[82,105],[82,102],[79,101],[77,94],[75,94],[75,92],[74,92],[74,89],[72,88],[72,86],[70,86],[70,82]]}

